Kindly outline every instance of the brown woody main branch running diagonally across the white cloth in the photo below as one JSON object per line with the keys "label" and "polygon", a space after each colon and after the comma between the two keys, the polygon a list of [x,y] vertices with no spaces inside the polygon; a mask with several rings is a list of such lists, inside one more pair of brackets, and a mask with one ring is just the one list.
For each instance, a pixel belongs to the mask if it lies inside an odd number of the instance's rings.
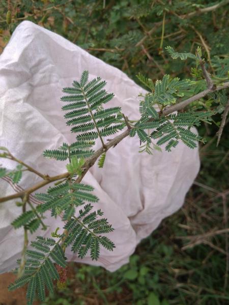
{"label": "brown woody main branch running diagonally across the white cloth", "polygon": [[[206,95],[208,95],[211,92],[215,92],[215,91],[219,91],[222,89],[226,89],[229,88],[229,81],[228,82],[224,82],[224,84],[222,86],[217,86],[216,88],[208,88],[176,105],[171,105],[169,106],[167,109],[164,109],[162,114],[164,116],[169,115],[173,112],[176,112],[178,110],[181,110],[183,108],[185,108],[187,105],[189,105],[190,103],[205,97]],[[111,147],[115,147],[117,144],[119,144],[125,137],[127,137],[130,133],[131,128],[128,128],[127,130],[125,130],[124,132],[122,132],[121,134],[117,135],[115,138],[113,138],[112,140],[110,140],[108,143],[105,144],[106,146],[106,150],[110,149]],[[85,160],[85,163],[83,164],[82,167],[82,174],[81,176],[79,176],[76,179],[76,183],[81,182],[81,180],[83,179],[83,177],[85,176],[85,174],[88,172],[88,170],[95,164],[96,160],[104,153],[104,148],[101,147],[100,149],[98,149],[90,158],[87,158]],[[12,199],[16,199],[16,198],[23,198],[25,195],[30,195],[32,192],[36,191],[37,189],[41,188],[42,186],[45,186],[51,182],[57,181],[57,180],[61,180],[61,179],[65,179],[68,178],[70,176],[70,174],[64,173],[64,174],[60,174],[57,176],[53,176],[53,177],[48,177],[46,179],[44,179],[43,181],[35,184],[32,187],[29,187],[23,191],[14,193],[13,195],[9,195],[3,198],[0,198],[0,203],[12,200]]]}

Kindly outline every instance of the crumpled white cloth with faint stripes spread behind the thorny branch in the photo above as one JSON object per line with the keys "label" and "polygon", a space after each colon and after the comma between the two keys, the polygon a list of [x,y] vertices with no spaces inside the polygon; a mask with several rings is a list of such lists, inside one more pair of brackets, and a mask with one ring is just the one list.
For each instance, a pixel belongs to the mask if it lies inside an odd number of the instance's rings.
{"label": "crumpled white cloth with faint stripes spread behind the thorny branch", "polygon": [[[115,93],[108,107],[121,106],[129,119],[139,118],[138,94],[145,91],[119,69],[105,64],[63,37],[32,22],[23,21],[0,57],[0,146],[38,171],[58,175],[66,172],[66,162],[48,160],[45,149],[59,148],[63,142],[75,142],[66,126],[62,88],[71,86],[89,70],[90,79],[101,76],[106,90]],[[96,143],[95,150],[100,147]],[[137,243],[157,228],[161,220],[176,212],[199,170],[198,149],[183,144],[168,153],[138,153],[139,139],[127,137],[107,152],[103,169],[94,165],[82,180],[95,187],[94,194],[115,231],[108,234],[116,248],[109,252],[101,247],[98,261],[90,254],[83,260],[66,249],[69,261],[100,265],[115,271],[128,262]],[[1,159],[8,169],[16,163]],[[0,196],[27,188],[40,181],[33,173],[24,172],[18,185],[0,180]],[[38,190],[45,191],[48,186]],[[34,204],[36,202],[34,201]],[[23,245],[23,230],[13,229],[11,222],[21,214],[15,200],[0,204],[0,273],[16,267]],[[47,231],[30,236],[50,236],[63,227],[58,217],[47,214]]]}

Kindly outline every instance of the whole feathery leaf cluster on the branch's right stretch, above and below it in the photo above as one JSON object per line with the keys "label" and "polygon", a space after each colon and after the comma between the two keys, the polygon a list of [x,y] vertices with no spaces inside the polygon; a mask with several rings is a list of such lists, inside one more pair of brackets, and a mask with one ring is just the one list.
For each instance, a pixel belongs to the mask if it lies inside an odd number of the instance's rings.
{"label": "whole feathery leaf cluster on the branch's right stretch, above and below it", "polygon": [[[181,58],[185,60],[187,58],[198,59],[191,53],[178,53],[172,47],[167,47],[171,57],[173,59]],[[202,56],[201,48],[197,48],[196,53],[199,57]],[[219,60],[219,59],[218,59]],[[217,67],[217,65],[216,65]],[[227,71],[227,66],[225,66]],[[193,75],[198,77],[197,69],[193,70]],[[165,150],[171,151],[171,148],[175,148],[179,141],[182,141],[189,148],[195,148],[197,141],[205,140],[191,131],[194,126],[201,125],[201,122],[211,124],[212,116],[217,112],[222,112],[224,109],[227,97],[225,91],[213,94],[213,101],[219,103],[218,107],[211,110],[210,106],[212,101],[208,101],[205,106],[205,111],[202,110],[203,103],[199,102],[199,107],[190,109],[187,112],[178,114],[171,114],[164,116],[163,108],[167,105],[177,102],[177,97],[189,97],[190,94],[194,95],[199,90],[204,90],[206,85],[203,86],[202,81],[191,81],[189,79],[180,80],[180,78],[171,78],[169,75],[164,75],[162,80],[156,80],[155,85],[152,85],[152,80],[146,78],[142,74],[138,74],[138,79],[146,87],[152,90],[152,93],[145,95],[144,100],[140,101],[139,112],[141,119],[135,123],[134,128],[130,131],[130,136],[138,135],[140,144],[146,143],[141,146],[140,152],[146,151],[152,154],[152,146],[158,149],[158,146],[165,144]],[[202,77],[202,76],[201,76]],[[219,77],[215,76],[217,79]],[[221,78],[219,78],[221,79]],[[225,80],[225,79],[224,79]],[[190,86],[197,84],[197,89],[194,90]],[[200,85],[200,86],[199,86]],[[199,87],[198,87],[199,86]],[[200,106],[201,105],[201,106]],[[155,106],[159,108],[159,112],[156,111]],[[208,109],[206,111],[206,108]],[[201,109],[202,111],[198,111]],[[153,131],[149,134],[149,129]],[[156,144],[151,139],[157,140]]]}

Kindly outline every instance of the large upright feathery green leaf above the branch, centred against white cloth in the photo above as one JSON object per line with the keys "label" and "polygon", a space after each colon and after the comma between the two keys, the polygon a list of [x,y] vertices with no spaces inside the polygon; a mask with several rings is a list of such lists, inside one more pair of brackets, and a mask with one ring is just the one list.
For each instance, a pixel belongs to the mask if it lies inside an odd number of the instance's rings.
{"label": "large upright feathery green leaf above the branch, centred against white cloth", "polygon": [[[61,98],[64,102],[74,102],[69,104],[70,106],[63,106],[62,109],[72,110],[65,115],[65,118],[71,118],[67,121],[67,125],[73,126],[71,132],[78,133],[76,138],[79,145],[81,142],[95,140],[99,136],[115,134],[125,126],[124,124],[117,124],[120,117],[120,107],[101,110],[101,106],[109,102],[114,96],[103,89],[106,82],[101,81],[100,77],[88,82],[88,78],[89,71],[83,71],[79,82],[74,81],[72,88],[63,89],[64,93],[70,95]],[[75,88],[79,94],[75,94]],[[101,127],[104,128],[100,129]]]}

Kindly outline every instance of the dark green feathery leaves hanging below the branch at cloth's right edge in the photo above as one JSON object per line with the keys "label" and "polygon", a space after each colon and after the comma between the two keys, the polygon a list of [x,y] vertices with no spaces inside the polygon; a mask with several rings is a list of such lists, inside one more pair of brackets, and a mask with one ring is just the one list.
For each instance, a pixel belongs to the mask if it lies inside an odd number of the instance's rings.
{"label": "dark green feathery leaves hanging below the branch at cloth's right edge", "polygon": [[[161,86],[168,81],[168,77],[166,79],[164,81],[163,78]],[[141,147],[143,149],[140,152],[146,151],[152,154],[151,144],[154,149],[166,144],[165,150],[171,151],[171,148],[175,148],[179,141],[182,141],[189,148],[195,148],[197,141],[205,141],[201,136],[193,133],[191,128],[199,126],[202,121],[211,124],[211,117],[215,112],[190,110],[186,113],[159,116],[154,108],[155,103],[157,102],[154,101],[154,97],[150,93],[146,95],[144,101],[140,102],[139,112],[141,119],[135,123],[134,129],[130,133],[130,136],[134,136],[137,133],[140,143],[147,143],[144,147]],[[149,134],[149,129],[154,129],[154,131]],[[157,140],[156,145],[152,143],[151,139]]]}

